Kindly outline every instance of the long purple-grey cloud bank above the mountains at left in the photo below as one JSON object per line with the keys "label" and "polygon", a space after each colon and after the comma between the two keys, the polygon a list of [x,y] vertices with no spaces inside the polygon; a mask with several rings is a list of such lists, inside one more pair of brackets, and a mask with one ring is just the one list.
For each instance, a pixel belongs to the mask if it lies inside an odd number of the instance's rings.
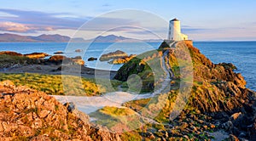
{"label": "long purple-grey cloud bank above the mountains at left", "polygon": [[[25,11],[6,8],[0,8],[0,12],[15,15],[4,17],[0,16],[2,31],[31,33],[61,29],[77,30],[81,25],[84,25],[84,23],[85,25],[79,30],[108,31],[109,29],[119,27],[120,25],[139,25],[139,23],[135,21],[119,17],[77,17],[68,13],[44,13],[38,11]],[[6,22],[9,24],[6,24]]]}

